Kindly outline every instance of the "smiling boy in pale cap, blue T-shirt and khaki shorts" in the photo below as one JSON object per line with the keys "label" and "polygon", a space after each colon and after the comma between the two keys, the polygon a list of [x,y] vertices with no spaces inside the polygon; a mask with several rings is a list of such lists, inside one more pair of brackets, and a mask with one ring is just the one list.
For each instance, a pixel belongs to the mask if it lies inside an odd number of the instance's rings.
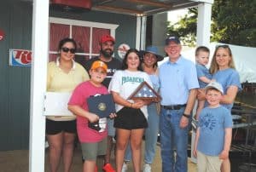
{"label": "smiling boy in pale cap, blue T-shirt and khaki shorts", "polygon": [[221,84],[212,82],[205,89],[209,105],[199,116],[193,154],[197,157],[199,172],[217,172],[222,161],[229,157],[232,117],[230,111],[219,104],[224,94]]}

